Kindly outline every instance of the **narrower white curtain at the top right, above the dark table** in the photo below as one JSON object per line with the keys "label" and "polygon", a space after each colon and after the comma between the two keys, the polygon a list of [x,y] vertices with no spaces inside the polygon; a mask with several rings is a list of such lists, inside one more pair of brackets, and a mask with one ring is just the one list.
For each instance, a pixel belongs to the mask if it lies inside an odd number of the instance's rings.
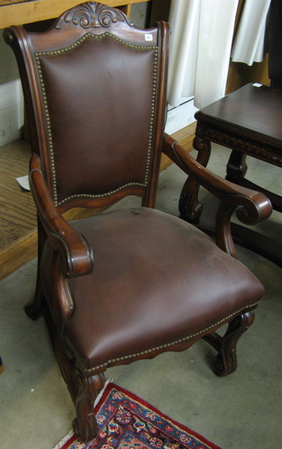
{"label": "narrower white curtain at the top right, above the dark table", "polygon": [[[264,36],[271,0],[245,0],[232,49],[232,61],[252,66],[264,58]],[[281,24],[282,26],[282,24]]]}

